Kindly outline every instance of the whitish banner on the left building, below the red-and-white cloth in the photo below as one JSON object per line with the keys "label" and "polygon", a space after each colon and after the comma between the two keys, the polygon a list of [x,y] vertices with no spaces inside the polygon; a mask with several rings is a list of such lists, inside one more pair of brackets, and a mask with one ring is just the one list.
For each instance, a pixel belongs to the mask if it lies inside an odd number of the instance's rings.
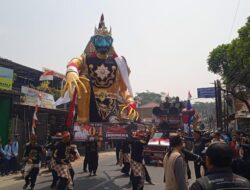
{"label": "whitish banner on the left building, below the red-and-white cloth", "polygon": [[[21,104],[36,106],[42,108],[55,109],[55,100],[52,94],[47,94],[26,86],[21,87]],[[40,101],[38,103],[38,101]]]}

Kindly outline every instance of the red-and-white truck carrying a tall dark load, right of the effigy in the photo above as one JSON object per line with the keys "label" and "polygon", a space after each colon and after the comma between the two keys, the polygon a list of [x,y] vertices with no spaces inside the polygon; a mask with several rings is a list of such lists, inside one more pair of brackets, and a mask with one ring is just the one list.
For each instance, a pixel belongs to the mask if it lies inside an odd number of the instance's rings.
{"label": "red-and-white truck carrying a tall dark load, right of the effigy", "polygon": [[152,113],[158,122],[153,124],[156,130],[144,147],[145,164],[163,161],[170,145],[169,136],[182,126],[181,110],[183,108],[184,103],[180,102],[178,97],[172,102],[166,98],[159,107],[153,108]]}

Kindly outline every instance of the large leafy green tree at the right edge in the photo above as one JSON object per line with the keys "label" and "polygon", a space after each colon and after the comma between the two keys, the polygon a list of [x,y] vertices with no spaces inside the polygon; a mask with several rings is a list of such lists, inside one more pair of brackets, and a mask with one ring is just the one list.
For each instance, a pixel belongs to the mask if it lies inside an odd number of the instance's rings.
{"label": "large leafy green tree at the right edge", "polygon": [[250,111],[250,17],[239,29],[239,36],[229,44],[213,49],[208,57],[208,70],[222,77],[227,90],[244,102]]}

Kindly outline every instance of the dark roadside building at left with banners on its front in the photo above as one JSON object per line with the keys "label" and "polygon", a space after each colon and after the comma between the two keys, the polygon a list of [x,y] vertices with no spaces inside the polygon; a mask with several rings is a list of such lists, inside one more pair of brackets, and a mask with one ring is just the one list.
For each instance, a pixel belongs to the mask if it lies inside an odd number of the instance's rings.
{"label": "dark roadside building at left with banners on its front", "polygon": [[[39,143],[44,144],[48,136],[65,128],[67,111],[54,106],[54,92],[59,91],[62,77],[54,76],[50,84],[41,83],[39,78],[43,73],[0,58],[0,136],[6,143],[9,137],[19,135],[20,151],[31,134],[36,105],[35,131]],[[39,90],[41,86],[53,92]]]}

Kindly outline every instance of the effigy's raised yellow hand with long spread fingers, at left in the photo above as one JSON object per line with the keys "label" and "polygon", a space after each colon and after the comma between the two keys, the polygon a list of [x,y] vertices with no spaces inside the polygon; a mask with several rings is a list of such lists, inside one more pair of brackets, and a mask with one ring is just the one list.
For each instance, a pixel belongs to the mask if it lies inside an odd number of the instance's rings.
{"label": "effigy's raised yellow hand with long spread fingers, at left", "polygon": [[64,84],[64,87],[62,90],[62,96],[65,94],[65,92],[68,89],[70,97],[73,97],[73,87],[75,86],[76,90],[77,90],[78,97],[81,98],[79,85],[81,85],[83,87],[85,93],[87,93],[87,88],[80,79],[88,81],[88,79],[85,76],[79,77],[78,73],[76,73],[76,72],[68,72],[66,75],[66,83]]}

